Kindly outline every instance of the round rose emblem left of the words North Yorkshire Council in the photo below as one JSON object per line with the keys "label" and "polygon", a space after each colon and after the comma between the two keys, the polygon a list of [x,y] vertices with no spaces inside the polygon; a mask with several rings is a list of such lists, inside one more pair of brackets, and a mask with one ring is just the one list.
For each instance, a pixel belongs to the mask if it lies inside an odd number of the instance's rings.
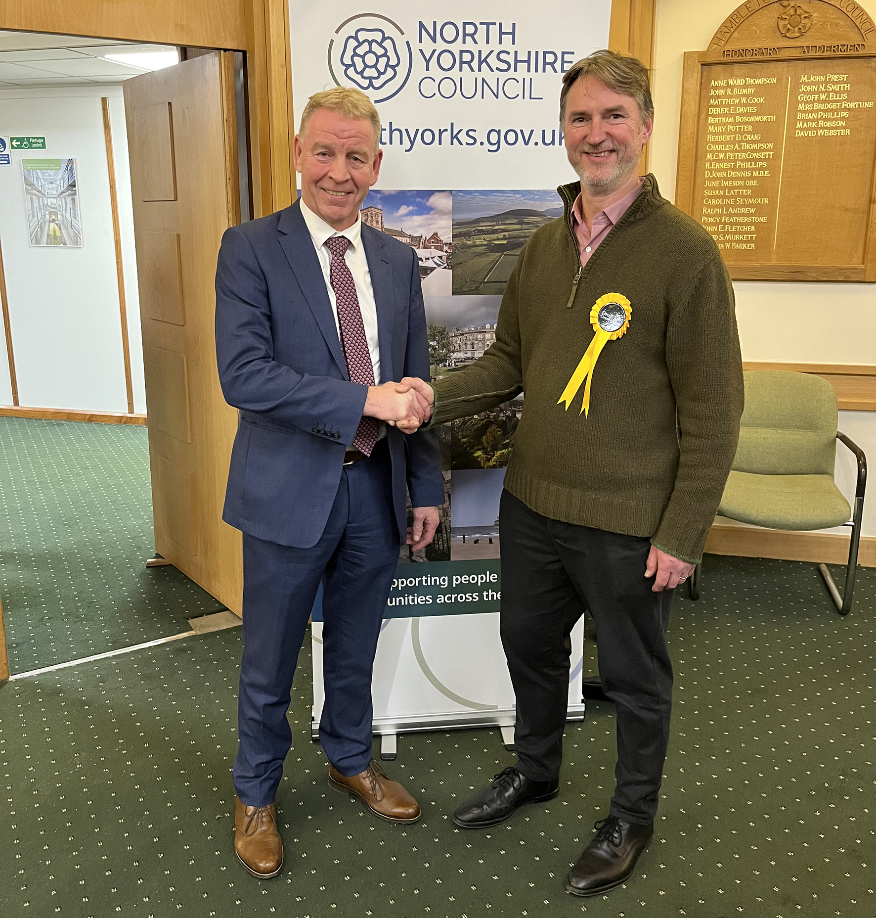
{"label": "round rose emblem left of the words North Yorkshire Council", "polygon": [[404,30],[379,13],[349,17],[328,42],[328,72],[338,86],[357,86],[387,102],[407,84],[414,64]]}

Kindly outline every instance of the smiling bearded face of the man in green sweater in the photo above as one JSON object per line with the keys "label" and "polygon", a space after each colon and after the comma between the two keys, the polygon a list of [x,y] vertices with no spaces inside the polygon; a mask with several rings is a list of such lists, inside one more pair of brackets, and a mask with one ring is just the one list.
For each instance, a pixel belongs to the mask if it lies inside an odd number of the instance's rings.
{"label": "smiling bearded face of the man in green sweater", "polygon": [[624,188],[637,172],[653,126],[653,118],[642,120],[631,95],[615,93],[593,76],[572,84],[563,133],[582,192],[604,197]]}

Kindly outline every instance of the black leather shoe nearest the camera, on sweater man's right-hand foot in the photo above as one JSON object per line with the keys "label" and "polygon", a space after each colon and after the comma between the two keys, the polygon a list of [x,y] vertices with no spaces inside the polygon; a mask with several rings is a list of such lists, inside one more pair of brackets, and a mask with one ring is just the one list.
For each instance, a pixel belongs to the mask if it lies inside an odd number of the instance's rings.
{"label": "black leather shoe nearest the camera, on sweater man's right-hand foot", "polygon": [[566,891],[573,896],[601,896],[626,883],[654,834],[654,823],[626,823],[616,816],[601,819],[595,828],[593,841],[566,880]]}

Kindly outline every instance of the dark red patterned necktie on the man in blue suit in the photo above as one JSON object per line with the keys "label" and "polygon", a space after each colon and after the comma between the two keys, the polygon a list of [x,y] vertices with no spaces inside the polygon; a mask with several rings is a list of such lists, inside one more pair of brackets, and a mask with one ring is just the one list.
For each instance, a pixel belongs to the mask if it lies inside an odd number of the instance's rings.
{"label": "dark red patterned necktie on the man in blue suit", "polygon": [[[344,349],[344,359],[347,361],[349,381],[361,386],[374,386],[374,365],[371,364],[371,351],[368,349],[365,326],[362,324],[356,284],[344,258],[344,253],[349,248],[349,239],[346,236],[332,236],[326,240],[326,247],[331,252],[328,276],[338,302],[340,343]],[[370,456],[379,433],[380,424],[376,418],[362,418],[353,439],[353,447],[360,453]]]}

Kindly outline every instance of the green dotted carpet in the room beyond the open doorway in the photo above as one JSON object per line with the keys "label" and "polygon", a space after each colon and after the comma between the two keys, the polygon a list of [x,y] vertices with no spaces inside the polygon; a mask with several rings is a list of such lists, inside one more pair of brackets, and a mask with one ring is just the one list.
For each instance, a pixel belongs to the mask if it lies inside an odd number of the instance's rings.
{"label": "green dotted carpet in the room beyond the open doorway", "polygon": [[222,609],[155,554],[143,427],[0,418],[0,597],[13,673]]}

